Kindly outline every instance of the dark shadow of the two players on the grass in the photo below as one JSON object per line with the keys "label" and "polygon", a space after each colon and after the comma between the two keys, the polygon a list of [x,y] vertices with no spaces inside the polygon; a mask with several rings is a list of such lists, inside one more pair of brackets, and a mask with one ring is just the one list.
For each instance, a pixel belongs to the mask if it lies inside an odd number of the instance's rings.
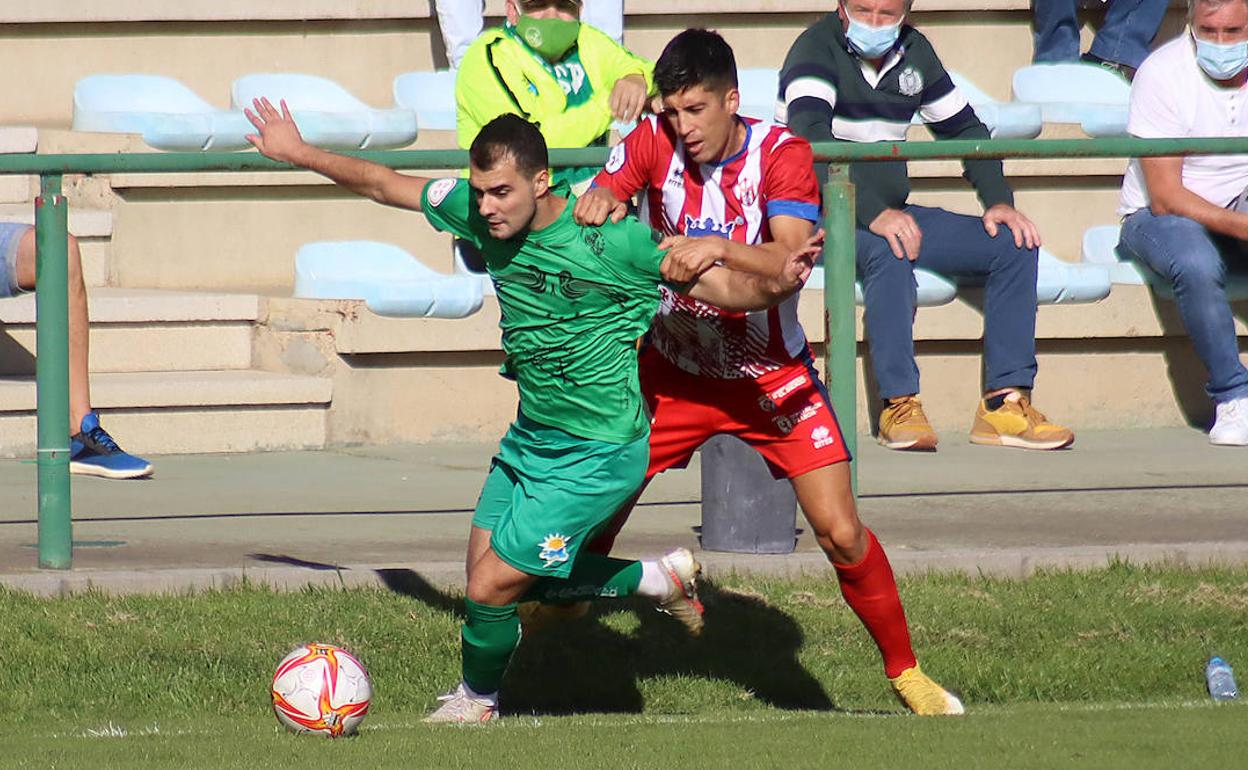
{"label": "dark shadow of the two players on the grass", "polygon": [[[463,616],[463,598],[448,594],[409,569],[379,569],[393,592]],[[703,582],[703,635],[681,626],[649,600],[604,600],[585,618],[547,626],[524,638],[507,673],[504,708],[512,714],[640,713],[643,679],[679,676],[731,681],[744,698],[779,709],[839,710],[797,660],[802,631],[760,598]],[[634,613],[625,633],[604,615]],[[626,625],[631,625],[625,623]]]}

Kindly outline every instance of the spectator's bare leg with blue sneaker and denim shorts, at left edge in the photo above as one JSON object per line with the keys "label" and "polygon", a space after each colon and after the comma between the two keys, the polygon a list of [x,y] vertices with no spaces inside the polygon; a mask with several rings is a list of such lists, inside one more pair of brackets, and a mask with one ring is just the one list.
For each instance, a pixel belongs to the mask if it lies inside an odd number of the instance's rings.
{"label": "spectator's bare leg with blue sneaker and denim shorts, at left edge", "polygon": [[[15,222],[0,222],[0,258],[4,277],[0,297],[12,297],[35,288],[35,228]],[[69,240],[69,322],[70,322],[70,473],[104,478],[141,478],[151,475],[152,465],[141,457],[125,453],[100,427],[91,408],[87,382],[87,309],[82,281],[82,257],[77,238]]]}

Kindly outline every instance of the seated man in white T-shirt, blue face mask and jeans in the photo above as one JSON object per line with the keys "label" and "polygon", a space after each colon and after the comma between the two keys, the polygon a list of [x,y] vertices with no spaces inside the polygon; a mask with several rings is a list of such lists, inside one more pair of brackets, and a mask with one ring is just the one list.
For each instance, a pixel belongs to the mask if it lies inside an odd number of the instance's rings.
{"label": "seated man in white T-shirt, blue face mask and jeans", "polygon": [[[1248,136],[1248,0],[1188,0],[1188,30],[1136,74],[1127,130],[1142,139]],[[1226,293],[1248,265],[1248,156],[1141,157],[1122,183],[1118,248],[1169,281],[1216,404],[1209,442],[1248,446],[1248,369]]]}

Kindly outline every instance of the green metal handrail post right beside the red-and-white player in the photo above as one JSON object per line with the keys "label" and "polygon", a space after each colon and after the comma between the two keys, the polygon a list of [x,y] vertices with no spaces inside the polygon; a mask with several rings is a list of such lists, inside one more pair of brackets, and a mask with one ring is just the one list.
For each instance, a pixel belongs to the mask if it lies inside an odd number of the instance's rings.
{"label": "green metal handrail post right beside the red-and-white player", "polygon": [[850,453],[850,484],[857,498],[857,329],[854,282],[857,280],[854,185],[850,167],[832,163],[824,185],[824,371],[832,408]]}

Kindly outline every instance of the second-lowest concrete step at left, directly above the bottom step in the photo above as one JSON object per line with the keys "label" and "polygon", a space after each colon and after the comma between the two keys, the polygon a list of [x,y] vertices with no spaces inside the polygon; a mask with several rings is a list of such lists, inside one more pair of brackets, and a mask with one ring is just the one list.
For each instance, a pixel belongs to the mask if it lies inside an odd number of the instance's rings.
{"label": "second-lowest concrete step at left, directly above the bottom step", "polygon": [[[256,295],[96,288],[87,293],[92,372],[246,369]],[[35,373],[35,296],[0,300],[0,376]]]}

